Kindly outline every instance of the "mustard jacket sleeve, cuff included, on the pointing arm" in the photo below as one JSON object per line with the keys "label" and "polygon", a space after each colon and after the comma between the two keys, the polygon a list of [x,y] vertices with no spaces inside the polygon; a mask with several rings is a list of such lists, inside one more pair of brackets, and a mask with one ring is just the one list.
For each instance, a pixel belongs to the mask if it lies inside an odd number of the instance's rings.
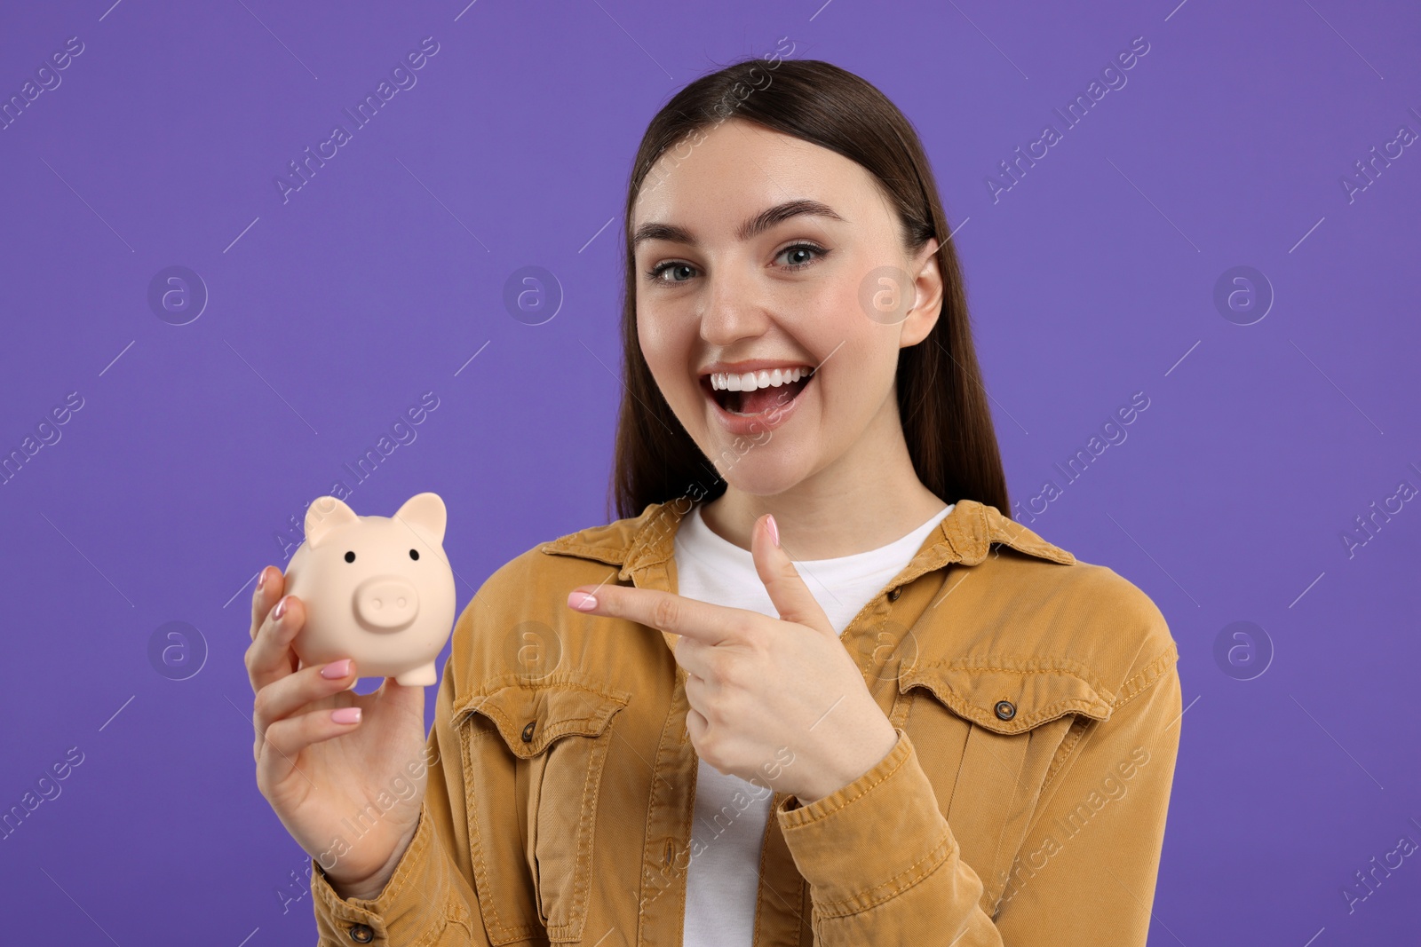
{"label": "mustard jacket sleeve, cuff included, on the pointing arm", "polygon": [[1179,741],[1175,659],[1171,646],[1133,676],[1057,761],[995,914],[902,728],[847,787],[804,806],[787,797],[776,819],[810,885],[814,943],[1144,944]]}

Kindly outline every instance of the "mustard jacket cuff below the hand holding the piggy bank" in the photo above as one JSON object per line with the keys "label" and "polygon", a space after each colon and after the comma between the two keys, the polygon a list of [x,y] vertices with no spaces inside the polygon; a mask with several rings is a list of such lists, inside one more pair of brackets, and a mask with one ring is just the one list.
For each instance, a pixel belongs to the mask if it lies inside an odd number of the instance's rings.
{"label": "mustard jacket cuff below the hand holding the piggy bank", "polygon": [[[395,873],[378,897],[342,899],[331,887],[320,863],[311,859],[311,903],[321,944],[428,943],[448,921],[442,907],[449,894],[449,873],[433,832],[428,802]],[[431,910],[431,906],[433,910]]]}

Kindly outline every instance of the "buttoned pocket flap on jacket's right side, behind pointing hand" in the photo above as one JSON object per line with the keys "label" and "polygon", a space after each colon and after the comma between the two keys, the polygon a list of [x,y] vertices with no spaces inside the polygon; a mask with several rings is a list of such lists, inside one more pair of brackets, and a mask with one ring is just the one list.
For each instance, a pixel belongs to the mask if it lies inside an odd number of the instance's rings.
{"label": "buttoned pocket flap on jacket's right side, behind pointing hand", "polygon": [[1108,720],[1110,693],[1074,662],[996,660],[914,666],[898,691],[931,690],[949,710],[993,733],[1016,734],[1066,714]]}

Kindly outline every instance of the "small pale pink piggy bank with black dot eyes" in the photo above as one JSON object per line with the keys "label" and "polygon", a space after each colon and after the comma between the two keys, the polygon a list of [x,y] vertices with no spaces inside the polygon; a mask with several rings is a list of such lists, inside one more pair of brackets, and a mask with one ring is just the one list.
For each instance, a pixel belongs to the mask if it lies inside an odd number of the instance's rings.
{"label": "small pale pink piggy bank with black dot eyes", "polygon": [[394,517],[358,517],[335,497],[307,507],[306,541],[286,566],[286,592],[306,606],[291,642],[304,666],[351,657],[361,677],[438,683],[435,659],[455,619],[445,518],[433,493]]}

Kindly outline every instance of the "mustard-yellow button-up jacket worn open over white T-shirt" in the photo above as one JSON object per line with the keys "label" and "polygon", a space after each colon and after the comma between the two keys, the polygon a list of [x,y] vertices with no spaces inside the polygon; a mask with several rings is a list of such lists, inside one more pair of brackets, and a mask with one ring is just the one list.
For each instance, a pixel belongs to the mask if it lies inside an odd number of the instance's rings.
{"label": "mustard-yellow button-up jacket worn open over white T-shirt", "polygon": [[[323,946],[681,943],[696,757],[675,636],[566,599],[675,592],[689,508],[649,504],[483,584],[394,877],[342,900],[311,862]],[[898,743],[810,805],[774,794],[756,947],[1144,944],[1182,716],[1154,602],[961,500],[841,637]]]}

